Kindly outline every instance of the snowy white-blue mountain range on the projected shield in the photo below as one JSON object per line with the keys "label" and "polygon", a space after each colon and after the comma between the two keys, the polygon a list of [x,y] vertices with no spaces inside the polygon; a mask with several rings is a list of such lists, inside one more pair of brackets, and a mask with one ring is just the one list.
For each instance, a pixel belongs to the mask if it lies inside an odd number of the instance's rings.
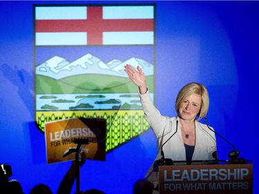
{"label": "snowy white-blue mountain range on the projected shield", "polygon": [[153,65],[143,59],[136,57],[132,57],[126,61],[113,59],[105,64],[101,59],[87,53],[73,62],[69,62],[62,57],[54,56],[36,67],[36,75],[43,75],[57,80],[82,74],[127,77],[126,72],[124,72],[124,66],[126,64],[131,64],[134,68],[140,66],[146,76],[154,74]]}

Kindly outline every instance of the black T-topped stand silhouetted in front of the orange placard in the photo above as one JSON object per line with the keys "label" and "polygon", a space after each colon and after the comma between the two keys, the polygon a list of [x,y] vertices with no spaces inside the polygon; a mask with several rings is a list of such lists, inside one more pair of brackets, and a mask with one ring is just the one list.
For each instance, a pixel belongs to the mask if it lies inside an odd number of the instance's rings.
{"label": "black T-topped stand silhouetted in front of the orange placard", "polygon": [[71,153],[75,153],[75,164],[76,164],[76,189],[77,192],[76,194],[80,193],[80,164],[79,162],[81,161],[81,146],[84,144],[89,144],[90,140],[89,139],[74,139],[74,143],[77,144],[77,148],[70,148],[67,153],[63,155],[63,157],[66,157],[70,155]]}

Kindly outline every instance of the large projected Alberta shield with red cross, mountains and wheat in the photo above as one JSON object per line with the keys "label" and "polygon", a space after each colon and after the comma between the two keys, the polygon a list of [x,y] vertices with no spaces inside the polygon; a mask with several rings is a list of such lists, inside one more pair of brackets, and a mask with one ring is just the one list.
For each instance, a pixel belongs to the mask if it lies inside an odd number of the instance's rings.
{"label": "large projected Alberta shield with red cross, mountains and wheat", "polygon": [[[102,117],[111,151],[148,130],[124,66],[143,69],[153,97],[154,13],[153,4],[35,6],[35,120],[41,131],[50,121]],[[78,108],[81,99],[86,104]]]}

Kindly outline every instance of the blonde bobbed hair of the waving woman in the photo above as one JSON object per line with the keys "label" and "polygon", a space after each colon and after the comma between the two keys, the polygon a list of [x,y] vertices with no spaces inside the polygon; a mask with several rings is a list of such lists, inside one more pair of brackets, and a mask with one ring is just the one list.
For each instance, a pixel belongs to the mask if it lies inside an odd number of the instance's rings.
{"label": "blonde bobbed hair of the waving woman", "polygon": [[205,117],[207,115],[207,112],[209,110],[209,93],[207,88],[202,85],[195,82],[189,83],[186,86],[184,86],[178,93],[178,96],[175,101],[175,110],[179,115],[180,110],[180,104],[182,104],[182,101],[186,97],[189,97],[189,95],[197,94],[202,97],[202,103],[200,105],[200,112],[198,113],[198,120],[202,119],[202,117]]}

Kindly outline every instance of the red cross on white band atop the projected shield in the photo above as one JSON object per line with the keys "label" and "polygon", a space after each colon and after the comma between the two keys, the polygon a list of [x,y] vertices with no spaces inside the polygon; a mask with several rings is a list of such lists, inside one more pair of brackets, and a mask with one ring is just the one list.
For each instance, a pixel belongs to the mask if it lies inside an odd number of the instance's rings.
{"label": "red cross on white band atop the projected shield", "polygon": [[153,45],[154,6],[38,6],[36,46]]}

